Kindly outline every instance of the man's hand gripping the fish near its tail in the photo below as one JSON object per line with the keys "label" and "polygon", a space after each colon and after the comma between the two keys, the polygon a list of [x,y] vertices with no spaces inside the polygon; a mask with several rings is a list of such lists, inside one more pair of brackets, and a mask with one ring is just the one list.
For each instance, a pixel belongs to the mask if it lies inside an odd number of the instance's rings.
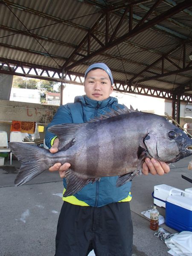
{"label": "man's hand gripping the fish near its tail", "polygon": [[[58,151],[58,144],[59,144],[59,140],[58,140],[58,138],[56,138],[54,140],[54,143],[53,143],[52,147],[49,149],[49,151],[51,153],[56,153]],[[53,166],[51,166],[49,168],[49,171],[50,172],[58,171],[60,177],[64,178],[65,177],[65,172],[70,168],[70,166],[71,166],[70,163],[64,163],[64,164],[55,163]]]}

